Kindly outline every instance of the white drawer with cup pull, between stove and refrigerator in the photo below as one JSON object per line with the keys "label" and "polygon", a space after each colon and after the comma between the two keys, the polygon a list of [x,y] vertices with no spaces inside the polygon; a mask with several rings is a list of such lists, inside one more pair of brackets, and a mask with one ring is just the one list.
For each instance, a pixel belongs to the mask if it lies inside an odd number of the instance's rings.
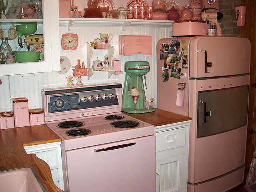
{"label": "white drawer with cup pull, between stove and refrigerator", "polygon": [[185,146],[185,144],[185,127],[156,133],[156,152]]}

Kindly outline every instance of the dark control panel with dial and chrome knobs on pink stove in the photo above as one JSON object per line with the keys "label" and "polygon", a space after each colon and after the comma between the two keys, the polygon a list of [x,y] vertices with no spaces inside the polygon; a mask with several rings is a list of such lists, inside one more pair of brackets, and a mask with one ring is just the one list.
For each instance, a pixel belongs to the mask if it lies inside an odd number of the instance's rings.
{"label": "dark control panel with dial and chrome knobs on pink stove", "polygon": [[116,90],[48,95],[48,113],[118,105]]}

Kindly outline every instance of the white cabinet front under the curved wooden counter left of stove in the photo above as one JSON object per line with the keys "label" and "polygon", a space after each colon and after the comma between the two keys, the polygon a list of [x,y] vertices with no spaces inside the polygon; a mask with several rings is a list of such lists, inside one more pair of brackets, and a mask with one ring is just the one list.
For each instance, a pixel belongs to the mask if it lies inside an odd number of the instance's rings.
{"label": "white cabinet front under the curved wooden counter left of stove", "polygon": [[27,154],[36,154],[50,167],[54,184],[64,190],[60,142],[25,146]]}

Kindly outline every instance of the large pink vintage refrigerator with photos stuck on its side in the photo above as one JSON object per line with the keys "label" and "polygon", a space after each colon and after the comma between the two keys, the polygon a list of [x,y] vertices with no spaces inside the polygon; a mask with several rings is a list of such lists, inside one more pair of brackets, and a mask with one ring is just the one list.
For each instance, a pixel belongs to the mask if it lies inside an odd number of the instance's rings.
{"label": "large pink vintage refrigerator with photos stuck on its side", "polygon": [[225,192],[242,183],[250,42],[196,36],[157,43],[157,108],[192,118],[188,192]]}

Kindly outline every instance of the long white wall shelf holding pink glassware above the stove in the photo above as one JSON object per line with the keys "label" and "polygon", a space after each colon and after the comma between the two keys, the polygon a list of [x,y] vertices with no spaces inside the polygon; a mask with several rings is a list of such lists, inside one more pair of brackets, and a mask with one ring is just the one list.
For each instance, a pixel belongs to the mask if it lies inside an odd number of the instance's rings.
{"label": "long white wall shelf holding pink glassware above the stove", "polygon": [[60,26],[67,25],[68,31],[73,25],[109,25],[122,26],[122,30],[126,26],[171,26],[173,21],[169,20],[145,20],[145,19],[111,19],[111,18],[59,18]]}

